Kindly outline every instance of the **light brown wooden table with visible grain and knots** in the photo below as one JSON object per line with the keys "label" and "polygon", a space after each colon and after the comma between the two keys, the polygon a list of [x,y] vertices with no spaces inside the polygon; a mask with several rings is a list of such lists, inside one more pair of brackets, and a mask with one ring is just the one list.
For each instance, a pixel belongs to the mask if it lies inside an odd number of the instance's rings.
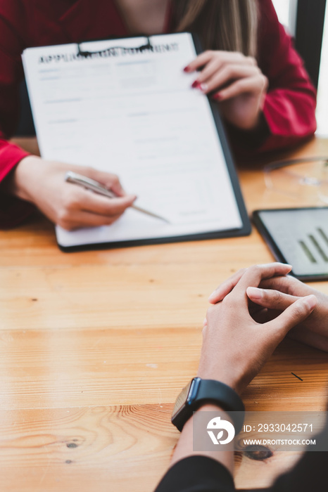
{"label": "light brown wooden table with visible grain and knots", "polygon": [[[293,153],[313,154],[328,155],[328,141]],[[261,167],[239,168],[248,212],[299,205],[266,190]],[[265,243],[253,230],[65,254],[35,219],[1,232],[0,248],[1,492],[151,492],[179,436],[170,413],[196,373],[208,294],[238,268],[272,261]],[[287,339],[246,389],[246,408],[324,410],[327,361]],[[236,484],[270,484],[295,459],[243,458]]]}

